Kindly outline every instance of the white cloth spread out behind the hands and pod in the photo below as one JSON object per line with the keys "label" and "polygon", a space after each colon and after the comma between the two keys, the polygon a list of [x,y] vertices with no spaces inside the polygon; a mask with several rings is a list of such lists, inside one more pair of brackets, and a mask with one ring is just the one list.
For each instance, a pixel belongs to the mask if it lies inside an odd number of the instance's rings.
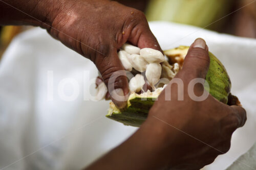
{"label": "white cloth spread out behind the hands and pod", "polygon": [[[225,65],[248,119],[205,169],[228,167],[256,141],[256,40],[169,22],[150,27],[163,49],[204,38]],[[129,137],[136,128],[104,117],[109,102],[88,101],[96,76],[91,61],[45,30],[18,35],[0,63],[0,169],[80,169]]]}

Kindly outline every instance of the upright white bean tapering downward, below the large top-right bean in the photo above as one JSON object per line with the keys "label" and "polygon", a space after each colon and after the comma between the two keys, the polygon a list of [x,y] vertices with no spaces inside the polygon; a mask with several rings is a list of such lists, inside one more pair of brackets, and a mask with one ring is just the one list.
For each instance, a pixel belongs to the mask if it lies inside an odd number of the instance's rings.
{"label": "upright white bean tapering downward, below the large top-right bean", "polygon": [[162,66],[159,63],[150,63],[146,67],[146,79],[147,82],[154,89],[155,84],[160,80]]}

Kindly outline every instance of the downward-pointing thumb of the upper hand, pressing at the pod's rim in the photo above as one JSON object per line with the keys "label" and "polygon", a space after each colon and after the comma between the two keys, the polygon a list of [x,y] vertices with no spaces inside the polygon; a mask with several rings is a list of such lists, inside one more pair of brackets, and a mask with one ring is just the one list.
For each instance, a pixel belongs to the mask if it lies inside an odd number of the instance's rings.
{"label": "downward-pointing thumb of the upper hand, pressing at the pod's rim", "polygon": [[109,53],[106,53],[106,56],[98,54],[95,59],[95,65],[106,87],[108,87],[114,104],[118,108],[124,108],[127,103],[127,96],[129,95],[129,86],[117,51],[112,49]]}

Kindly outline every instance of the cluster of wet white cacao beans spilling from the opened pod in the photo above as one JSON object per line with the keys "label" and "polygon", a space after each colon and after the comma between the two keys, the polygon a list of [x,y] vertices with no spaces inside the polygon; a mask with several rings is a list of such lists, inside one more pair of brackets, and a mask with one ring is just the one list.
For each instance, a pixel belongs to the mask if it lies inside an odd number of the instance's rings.
{"label": "cluster of wet white cacao beans spilling from the opened pod", "polygon": [[[134,75],[129,82],[129,88],[131,92],[136,93],[141,91],[144,92],[148,89],[156,90],[155,85],[159,82],[160,78],[166,78],[167,81],[163,82],[162,84],[167,84],[172,78],[174,78],[180,69],[178,63],[170,65],[160,51],[154,50],[153,48],[140,49],[139,47],[129,43],[122,45],[120,51],[118,52],[118,57],[124,69],[132,72]],[[100,77],[98,77],[98,79],[100,79],[101,83],[103,83]],[[103,99],[103,87],[99,85],[99,83],[96,83],[98,88],[96,95],[97,100]],[[105,99],[108,100],[109,98],[109,94],[105,94]]]}

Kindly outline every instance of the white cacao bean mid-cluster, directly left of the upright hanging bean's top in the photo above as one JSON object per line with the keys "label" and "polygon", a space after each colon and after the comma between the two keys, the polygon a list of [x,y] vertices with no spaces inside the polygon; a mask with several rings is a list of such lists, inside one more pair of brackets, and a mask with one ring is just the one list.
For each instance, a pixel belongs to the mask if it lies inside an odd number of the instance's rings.
{"label": "white cacao bean mid-cluster, directly left of the upright hanging bean's top", "polygon": [[128,56],[134,69],[143,72],[146,70],[146,65],[148,64],[143,57],[138,54],[131,54]]}

